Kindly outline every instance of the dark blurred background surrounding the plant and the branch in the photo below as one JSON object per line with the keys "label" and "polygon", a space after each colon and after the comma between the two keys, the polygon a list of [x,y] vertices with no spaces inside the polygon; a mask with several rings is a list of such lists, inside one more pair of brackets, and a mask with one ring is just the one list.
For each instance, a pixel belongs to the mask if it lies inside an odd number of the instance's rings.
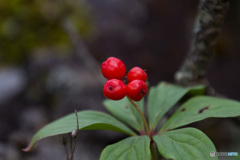
{"label": "dark blurred background surrounding the plant and the branch", "polygon": [[[106,111],[100,64],[109,56],[127,69],[147,70],[150,85],[174,83],[189,49],[198,0],[0,1],[0,160],[65,159],[61,136],[21,151],[45,124],[74,109]],[[231,0],[208,79],[220,94],[240,100],[240,1]],[[226,106],[227,107],[227,106]],[[240,152],[232,120],[194,124],[218,151]],[[83,131],[76,159],[98,159],[123,138]],[[230,159],[230,158],[229,158]]]}

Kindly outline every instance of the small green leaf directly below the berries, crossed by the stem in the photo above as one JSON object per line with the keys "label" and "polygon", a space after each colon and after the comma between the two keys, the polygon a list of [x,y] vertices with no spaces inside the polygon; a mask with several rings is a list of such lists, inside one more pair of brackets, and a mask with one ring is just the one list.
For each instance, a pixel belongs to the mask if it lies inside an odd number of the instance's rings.
{"label": "small green leaf directly below the berries, crossed by the stem", "polygon": [[[144,110],[144,100],[135,102],[139,109],[143,112]],[[143,121],[137,112],[137,110],[132,106],[129,100],[125,97],[119,101],[105,100],[103,102],[106,109],[112,113],[115,117],[125,122],[129,126],[133,127],[137,131],[144,130]]]}

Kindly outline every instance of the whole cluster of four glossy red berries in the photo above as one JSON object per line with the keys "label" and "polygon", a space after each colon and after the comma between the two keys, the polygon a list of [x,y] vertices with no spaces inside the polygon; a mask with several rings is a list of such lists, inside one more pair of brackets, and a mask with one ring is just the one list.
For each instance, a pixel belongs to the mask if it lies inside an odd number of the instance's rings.
{"label": "whole cluster of four glossy red berries", "polygon": [[124,84],[126,66],[118,58],[109,57],[101,65],[102,74],[108,81],[103,87],[105,97],[120,100],[128,96],[134,101],[140,101],[148,91],[147,74],[140,67],[133,67],[127,74],[128,84]]}

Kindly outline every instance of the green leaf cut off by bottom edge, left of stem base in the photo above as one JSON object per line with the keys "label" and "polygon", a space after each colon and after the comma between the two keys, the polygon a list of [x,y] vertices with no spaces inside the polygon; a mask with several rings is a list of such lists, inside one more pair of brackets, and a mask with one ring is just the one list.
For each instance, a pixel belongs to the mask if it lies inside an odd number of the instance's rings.
{"label": "green leaf cut off by bottom edge, left of stem base", "polygon": [[107,146],[100,160],[151,160],[150,138],[133,136]]}

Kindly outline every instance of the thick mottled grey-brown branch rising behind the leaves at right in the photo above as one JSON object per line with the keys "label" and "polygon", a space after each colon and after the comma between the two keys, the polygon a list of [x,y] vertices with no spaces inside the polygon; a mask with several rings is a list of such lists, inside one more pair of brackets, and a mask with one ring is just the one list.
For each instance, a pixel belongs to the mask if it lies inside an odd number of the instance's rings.
{"label": "thick mottled grey-brown branch rising behind the leaves at right", "polygon": [[178,84],[184,86],[205,84],[209,86],[206,71],[228,6],[228,0],[200,1],[192,45],[180,70],[175,75]]}

